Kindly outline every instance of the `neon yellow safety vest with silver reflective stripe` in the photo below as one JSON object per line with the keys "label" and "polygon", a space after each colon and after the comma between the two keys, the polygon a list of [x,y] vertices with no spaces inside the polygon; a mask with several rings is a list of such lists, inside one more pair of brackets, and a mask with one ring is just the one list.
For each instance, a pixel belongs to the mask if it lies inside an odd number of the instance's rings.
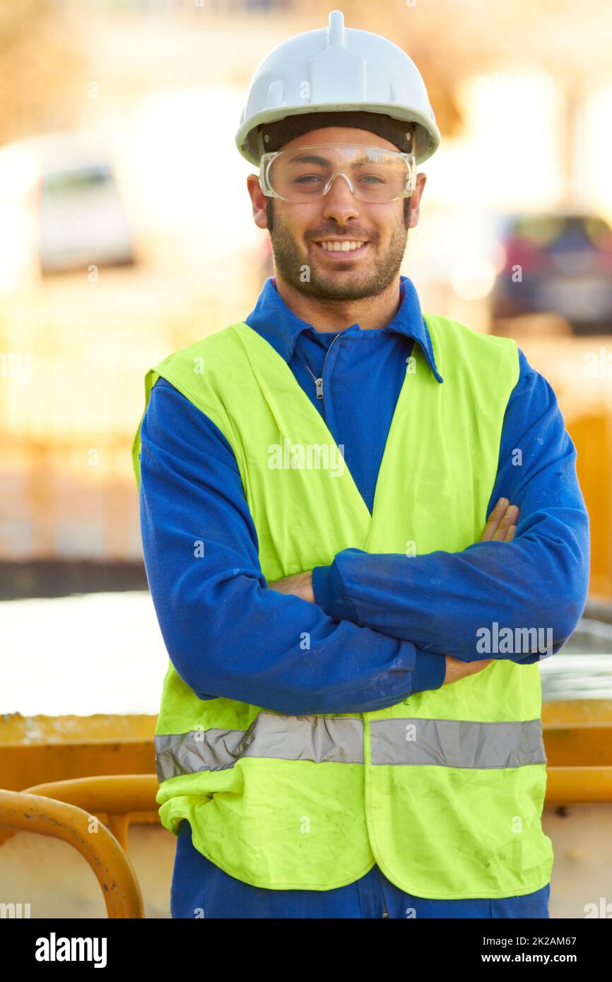
{"label": "neon yellow safety vest with silver reflective stripe", "polygon": [[[416,346],[371,516],[346,465],[332,473],[320,464],[334,444],[324,420],[247,324],[147,373],[146,401],[162,376],[230,443],[268,582],[328,565],[349,547],[410,563],[410,552],[458,552],[479,538],[518,350],[424,316],[444,382]],[[319,465],[298,454],[272,467],[270,448],[286,440],[318,447]],[[139,430],[134,465],[139,479]],[[250,629],[264,628],[246,626],[246,645]],[[529,894],[549,882],[553,859],[541,828],[540,712],[538,665],[506,659],[387,709],[303,717],[200,700],[170,662],[155,730],[160,818],[175,835],[187,819],[195,847],[255,887],[330,890],[376,862],[418,897]]]}

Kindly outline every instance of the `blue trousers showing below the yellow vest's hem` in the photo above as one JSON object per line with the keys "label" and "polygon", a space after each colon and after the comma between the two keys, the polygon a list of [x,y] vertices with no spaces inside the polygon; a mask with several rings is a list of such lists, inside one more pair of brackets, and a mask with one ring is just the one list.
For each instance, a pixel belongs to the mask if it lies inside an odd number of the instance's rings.
{"label": "blue trousers showing below the yellow vest's hem", "polygon": [[192,828],[181,822],[174,860],[173,917],[549,917],[550,884],[525,897],[427,900],[405,894],[378,866],[334,890],[266,890],[229,876],[198,852]]}

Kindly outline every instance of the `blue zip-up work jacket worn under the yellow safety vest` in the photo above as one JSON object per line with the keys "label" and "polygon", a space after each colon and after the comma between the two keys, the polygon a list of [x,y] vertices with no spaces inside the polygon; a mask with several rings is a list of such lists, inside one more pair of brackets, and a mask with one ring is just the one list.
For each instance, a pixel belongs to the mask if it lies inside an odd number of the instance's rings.
{"label": "blue zip-up work jacket worn under the yellow safety vest", "polygon": [[[414,284],[401,277],[398,312],[378,330],[354,324],[319,333],[289,309],[273,278],[246,320],[285,358],[336,443],[344,444],[371,512],[414,344],[444,385]],[[334,338],[324,399],[317,400],[306,363],[318,377]],[[151,391],[140,438],[148,583],[170,658],[199,698],[225,696],[290,715],[382,709],[439,687],[444,654],[487,657],[476,650],[479,627],[552,628],[555,653],[583,612],[588,517],[576,450],[551,387],[523,352],[488,509],[500,497],[519,506],[515,540],[411,558],[345,549],[330,566],[314,569],[314,604],[267,587],[232,449],[165,379]],[[198,559],[195,540],[204,543]],[[305,630],[307,658],[299,643]],[[495,657],[530,663],[541,655]]]}

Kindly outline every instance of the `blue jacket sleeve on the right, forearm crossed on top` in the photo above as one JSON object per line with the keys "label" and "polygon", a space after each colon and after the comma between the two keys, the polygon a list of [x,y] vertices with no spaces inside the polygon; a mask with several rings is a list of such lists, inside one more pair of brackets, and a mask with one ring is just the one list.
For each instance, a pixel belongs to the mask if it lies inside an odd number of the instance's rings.
{"label": "blue jacket sleeve on the right, forearm crossed on top", "polygon": [[[314,598],[330,617],[410,638],[426,651],[463,661],[492,656],[531,663],[542,647],[555,654],[567,641],[586,600],[588,515],[576,450],[555,394],[521,350],[519,357],[487,513],[501,497],[519,506],[514,541],[410,558],[346,549],[330,567],[312,572]],[[492,637],[495,624],[525,641],[511,645],[510,652],[499,645],[498,652],[483,653],[477,647],[482,629]],[[528,636],[536,637],[532,630],[525,633],[530,628],[543,632],[528,646]]]}

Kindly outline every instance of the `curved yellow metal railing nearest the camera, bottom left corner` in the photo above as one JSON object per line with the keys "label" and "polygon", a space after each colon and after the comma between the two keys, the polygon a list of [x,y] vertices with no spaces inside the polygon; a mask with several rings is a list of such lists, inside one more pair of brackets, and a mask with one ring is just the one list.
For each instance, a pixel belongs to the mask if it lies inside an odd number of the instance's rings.
{"label": "curved yellow metal railing nearest the camera, bottom left corner", "polygon": [[0,790],[0,826],[61,839],[81,852],[100,885],[109,917],[144,916],[139,883],[115,837],[74,804],[41,794]]}

